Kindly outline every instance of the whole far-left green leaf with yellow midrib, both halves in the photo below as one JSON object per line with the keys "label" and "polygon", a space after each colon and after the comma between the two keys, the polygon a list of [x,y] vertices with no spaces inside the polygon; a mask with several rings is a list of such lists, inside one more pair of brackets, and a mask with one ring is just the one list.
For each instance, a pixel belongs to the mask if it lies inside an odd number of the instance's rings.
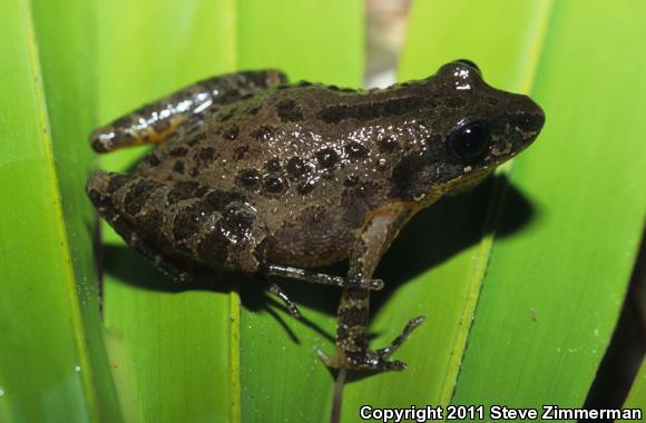
{"label": "whole far-left green leaf with yellow midrib, both halves", "polygon": [[[95,125],[81,1],[0,17],[0,420],[120,420],[98,319],[82,186]],[[58,10],[58,14],[51,14]],[[78,21],[60,29],[61,21]],[[41,66],[42,63],[42,66]],[[74,110],[75,112],[70,112]]]}

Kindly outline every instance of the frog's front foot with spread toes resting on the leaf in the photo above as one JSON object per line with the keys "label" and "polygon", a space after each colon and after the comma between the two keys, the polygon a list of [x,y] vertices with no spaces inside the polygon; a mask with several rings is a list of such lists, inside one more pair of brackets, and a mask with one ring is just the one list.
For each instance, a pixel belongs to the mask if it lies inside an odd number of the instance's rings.
{"label": "frog's front foot with spread toes resting on the leaf", "polygon": [[316,348],[316,355],[332,368],[351,368],[368,371],[402,371],[407,367],[404,362],[399,360],[389,361],[388,358],[404,343],[410,334],[422,324],[423,316],[418,316],[409,321],[402,333],[393,342],[380,350],[366,350],[363,352],[349,352],[336,347],[333,356],[329,356],[321,348]]}

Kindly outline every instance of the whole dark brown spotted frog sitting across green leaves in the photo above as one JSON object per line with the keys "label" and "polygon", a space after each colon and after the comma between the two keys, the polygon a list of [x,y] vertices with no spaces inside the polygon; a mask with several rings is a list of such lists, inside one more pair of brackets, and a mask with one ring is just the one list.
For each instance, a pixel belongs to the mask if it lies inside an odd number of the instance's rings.
{"label": "whole dark brown spotted frog sitting across green leaves", "polygon": [[[528,96],[460,59],[382,89],[298,81],[275,69],[205,79],[95,130],[97,153],[156,144],[133,173],[95,171],[86,193],[138,253],[182,283],[257,276],[341,289],[330,367],[401,371],[393,353],[423,321],[369,347],[381,257],[420,210],[476,186],[545,122]],[[345,262],[343,276],[316,272]],[[403,265],[403,264],[402,264]],[[252,278],[253,279],[253,278]]]}

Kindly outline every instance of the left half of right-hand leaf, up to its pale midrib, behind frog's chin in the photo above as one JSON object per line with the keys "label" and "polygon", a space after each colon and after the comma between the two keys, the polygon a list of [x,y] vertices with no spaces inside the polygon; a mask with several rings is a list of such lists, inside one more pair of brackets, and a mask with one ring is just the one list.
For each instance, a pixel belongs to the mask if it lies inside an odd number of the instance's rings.
{"label": "left half of right-hand leaf, up to its pale midrib, behind frog's chin", "polygon": [[[466,13],[461,2],[415,2],[400,79],[425,78],[446,62],[468,58],[478,63],[489,83],[527,91],[549,10],[546,2],[499,0],[470,2]],[[526,154],[531,155],[531,149]],[[386,298],[375,313],[373,327],[380,336],[373,344],[390,342],[415,315],[425,315],[427,321],[397,354],[409,368],[346,387],[346,420],[362,404],[448,404],[492,243],[492,235],[481,236],[491,226],[490,214],[497,212],[503,187],[499,180],[441,200],[420,213],[393,243],[382,268],[386,284],[397,286],[375,295]]]}

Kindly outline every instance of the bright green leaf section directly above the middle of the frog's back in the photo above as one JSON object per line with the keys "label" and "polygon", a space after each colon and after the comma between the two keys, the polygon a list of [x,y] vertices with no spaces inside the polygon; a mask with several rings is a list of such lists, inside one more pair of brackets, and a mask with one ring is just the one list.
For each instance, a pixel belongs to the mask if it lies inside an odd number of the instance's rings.
{"label": "bright green leaf section directly above the middle of the frog's back", "polygon": [[239,69],[280,68],[292,81],[361,85],[361,1],[239,1],[237,19]]}

